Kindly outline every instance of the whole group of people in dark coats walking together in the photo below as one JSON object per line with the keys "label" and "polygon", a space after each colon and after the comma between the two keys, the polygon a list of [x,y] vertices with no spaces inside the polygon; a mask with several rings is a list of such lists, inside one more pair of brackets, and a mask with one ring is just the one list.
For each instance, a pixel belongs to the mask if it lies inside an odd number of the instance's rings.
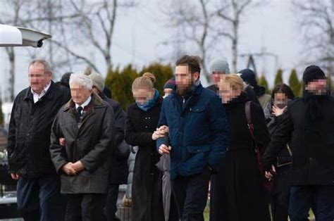
{"label": "whole group of people in dark coats walking together", "polygon": [[295,99],[286,84],[266,94],[252,70],[231,74],[219,59],[204,88],[199,64],[179,58],[165,96],[154,75],[137,77],[125,113],[101,75],[73,73],[68,89],[51,80],[46,61],[30,63],[30,87],[16,97],[8,131],[23,218],[117,220],[126,179],[116,177],[130,145],[133,221],[202,221],[208,195],[211,221],[299,221],[310,209],[316,220],[334,220],[334,98],[324,72],[307,67]]}

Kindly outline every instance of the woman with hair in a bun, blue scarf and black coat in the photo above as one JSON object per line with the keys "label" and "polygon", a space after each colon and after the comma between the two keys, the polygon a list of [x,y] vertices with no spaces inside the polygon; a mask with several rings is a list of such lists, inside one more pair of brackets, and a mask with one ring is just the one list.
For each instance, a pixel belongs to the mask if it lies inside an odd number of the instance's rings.
{"label": "woman with hair in a bun, blue scarf and black coat", "polygon": [[[147,72],[132,83],[135,103],[128,106],[125,141],[138,146],[132,178],[132,220],[165,221],[163,216],[161,178],[156,168],[159,153],[154,133],[158,125],[162,97],[154,89],[155,77]],[[176,212],[175,212],[176,213]]]}

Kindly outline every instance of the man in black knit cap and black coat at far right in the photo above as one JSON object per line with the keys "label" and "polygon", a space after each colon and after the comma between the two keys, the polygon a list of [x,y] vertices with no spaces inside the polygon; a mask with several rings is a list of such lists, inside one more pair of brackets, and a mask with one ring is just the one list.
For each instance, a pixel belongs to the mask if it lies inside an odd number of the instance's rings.
{"label": "man in black knit cap and black coat at far right", "polygon": [[334,220],[334,99],[328,95],[326,75],[318,66],[307,67],[303,81],[303,97],[288,103],[263,165],[269,171],[290,141],[290,220],[307,220],[310,208],[317,221]]}

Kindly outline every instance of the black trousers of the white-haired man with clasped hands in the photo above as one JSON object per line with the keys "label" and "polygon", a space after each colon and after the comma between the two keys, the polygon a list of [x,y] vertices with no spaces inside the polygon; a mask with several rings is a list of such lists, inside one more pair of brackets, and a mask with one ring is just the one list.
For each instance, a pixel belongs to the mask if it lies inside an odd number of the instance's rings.
{"label": "black trousers of the white-haired man with clasped hands", "polygon": [[105,194],[68,194],[66,221],[104,221]]}

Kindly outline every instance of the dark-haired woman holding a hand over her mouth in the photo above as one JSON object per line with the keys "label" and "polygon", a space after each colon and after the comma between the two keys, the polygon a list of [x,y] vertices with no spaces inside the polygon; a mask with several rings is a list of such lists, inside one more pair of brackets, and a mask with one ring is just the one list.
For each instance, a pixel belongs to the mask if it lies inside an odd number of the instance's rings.
{"label": "dark-haired woman holding a hand over her mouth", "polygon": [[[273,136],[278,125],[283,120],[283,113],[287,107],[287,101],[295,99],[295,95],[287,84],[278,84],[271,94],[271,102],[264,108],[264,116],[269,130]],[[271,190],[271,213],[273,221],[287,221],[287,209],[290,198],[290,175],[292,165],[292,153],[290,144],[287,144],[277,157],[276,176],[273,179]]]}

